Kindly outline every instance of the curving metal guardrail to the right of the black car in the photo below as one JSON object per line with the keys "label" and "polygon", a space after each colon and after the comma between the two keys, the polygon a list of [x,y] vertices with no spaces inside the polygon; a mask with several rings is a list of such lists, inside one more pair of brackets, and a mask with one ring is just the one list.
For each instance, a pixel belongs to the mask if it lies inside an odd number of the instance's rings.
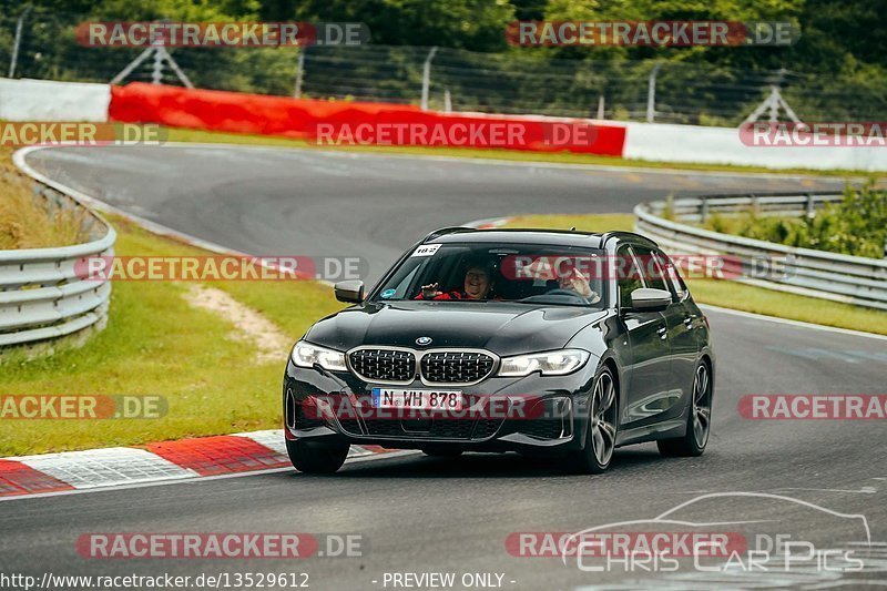
{"label": "curving metal guardrail to the right of the black car", "polygon": [[[887,309],[887,259],[784,246],[681,223],[704,222],[713,214],[735,215],[750,207],[761,215],[814,215],[824,203],[842,197],[835,193],[782,193],[656,201],[634,208],[635,228],[677,253],[736,257],[742,263],[743,274],[736,279],[741,283]],[[672,220],[663,217],[666,212]],[[781,267],[776,273],[774,262]]]}

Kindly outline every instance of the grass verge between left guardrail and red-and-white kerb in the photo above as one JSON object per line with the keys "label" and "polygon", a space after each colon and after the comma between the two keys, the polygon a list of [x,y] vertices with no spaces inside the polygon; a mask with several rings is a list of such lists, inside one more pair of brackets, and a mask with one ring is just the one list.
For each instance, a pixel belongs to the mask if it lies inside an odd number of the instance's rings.
{"label": "grass verge between left guardrail and red-and-white kerb", "polygon": [[[121,256],[210,254],[110,220]],[[315,282],[210,282],[262,313],[295,342],[320,316],[341,307]],[[281,425],[281,379],[288,350],[257,364],[248,343],[231,337],[216,314],[192,307],[185,285],[115,282],[104,332],[79,349],[0,365],[2,395],[161,395],[159,419],[23,420],[0,418],[0,457],[191,436],[222,435]]]}

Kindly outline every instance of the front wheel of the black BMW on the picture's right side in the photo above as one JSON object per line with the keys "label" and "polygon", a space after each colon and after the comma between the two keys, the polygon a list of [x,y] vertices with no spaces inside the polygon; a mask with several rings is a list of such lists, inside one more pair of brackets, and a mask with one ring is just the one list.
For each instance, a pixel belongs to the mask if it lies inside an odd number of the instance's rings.
{"label": "front wheel of the black BMW on the picture's right side", "polygon": [[610,468],[619,429],[618,399],[613,373],[603,366],[594,376],[589,397],[589,420],[583,434],[585,445],[567,457],[570,472],[599,475]]}

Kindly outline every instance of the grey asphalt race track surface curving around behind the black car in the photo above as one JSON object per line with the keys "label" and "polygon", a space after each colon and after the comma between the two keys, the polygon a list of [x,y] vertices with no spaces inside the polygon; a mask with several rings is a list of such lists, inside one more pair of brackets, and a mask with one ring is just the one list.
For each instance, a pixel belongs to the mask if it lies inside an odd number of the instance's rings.
{"label": "grey asphalt race track surface curving around behind the black car", "polygon": [[[629,212],[670,192],[843,184],[196,146],[44,150],[28,162],[74,188],[203,240],[252,254],[359,254],[371,276],[424,232],[471,220]],[[712,439],[701,458],[664,459],[654,446],[636,446],[618,450],[609,473],[578,477],[563,475],[550,461],[517,455],[468,455],[455,461],[405,455],[348,463],[333,477],[277,471],[7,501],[0,502],[0,572],[308,572],[312,589],[392,589],[384,582],[385,573],[394,572],[452,572],[456,589],[465,588],[463,573],[488,572],[501,573],[504,589],[884,582],[884,546],[866,550],[863,573],[799,563],[786,573],[769,562],[753,573],[742,568],[730,574],[700,572],[692,564],[677,572],[648,572],[649,564],[636,563],[588,572],[575,559],[564,564],[558,558],[508,552],[512,532],[574,532],[650,520],[694,499],[675,516],[720,523],[708,526],[710,531],[788,534],[814,543],[817,556],[820,549],[856,549],[848,544],[866,539],[860,523],[867,523],[874,542],[887,540],[884,420],[748,420],[737,412],[740,398],[748,394],[884,394],[887,340],[715,310],[707,315],[717,379]],[[738,492],[759,495],[702,497]],[[604,530],[675,528],[634,523]],[[295,562],[86,560],[75,551],[83,533],[124,531],[359,533],[366,551],[359,558]]]}

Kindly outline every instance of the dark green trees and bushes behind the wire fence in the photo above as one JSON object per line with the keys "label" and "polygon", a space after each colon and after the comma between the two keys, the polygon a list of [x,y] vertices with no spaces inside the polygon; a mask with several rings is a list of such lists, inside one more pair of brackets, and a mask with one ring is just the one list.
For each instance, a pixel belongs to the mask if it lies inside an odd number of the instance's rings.
{"label": "dark green trees and bushes behind the wire fence", "polygon": [[[312,48],[305,94],[417,102],[427,48],[435,58],[432,106],[450,91],[457,110],[642,119],[648,75],[662,62],[657,121],[736,124],[771,83],[805,121],[879,121],[887,112],[884,0],[33,0],[18,77],[106,82],[137,49],[92,49],[73,40],[86,20],[360,21],[363,49]],[[9,63],[26,3],[0,0],[0,67]],[[788,20],[791,47],[520,48],[514,20]],[[293,94],[295,48],[174,49],[197,86]],[[147,79],[143,69],[133,79]],[[170,78],[170,81],[173,79]]]}

